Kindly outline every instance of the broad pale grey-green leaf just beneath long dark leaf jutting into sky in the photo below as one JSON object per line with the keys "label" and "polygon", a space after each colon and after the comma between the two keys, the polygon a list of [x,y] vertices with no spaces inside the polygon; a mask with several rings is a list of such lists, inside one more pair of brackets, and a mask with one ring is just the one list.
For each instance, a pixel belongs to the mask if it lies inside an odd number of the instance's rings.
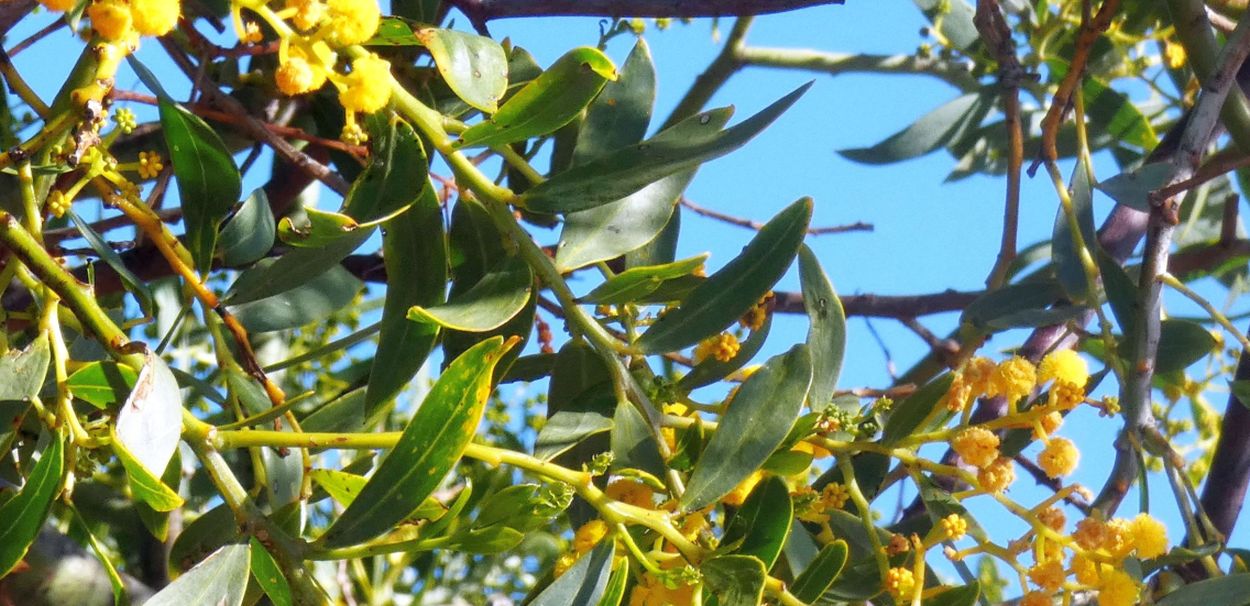
{"label": "broad pale grey-green leaf just beneath long dark leaf jutting into sky", "polygon": [[694,171],[669,175],[621,200],[565,216],[555,264],[560,271],[615,259],[654,240],[678,215]]}

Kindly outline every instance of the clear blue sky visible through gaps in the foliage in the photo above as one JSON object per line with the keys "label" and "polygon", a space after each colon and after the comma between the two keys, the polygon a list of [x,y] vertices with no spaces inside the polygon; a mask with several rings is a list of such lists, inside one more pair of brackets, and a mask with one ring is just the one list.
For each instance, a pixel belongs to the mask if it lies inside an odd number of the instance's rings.
{"label": "clear blue sky visible through gaps in the foliage", "polygon": [[[28,19],[10,40],[41,27],[51,15]],[[462,26],[462,17],[458,19]],[[731,22],[722,20],[720,29],[728,34]],[[849,1],[841,6],[802,10],[789,15],[759,17],[748,36],[748,44],[760,46],[814,47],[842,52],[909,54],[922,42],[919,31],[926,25],[911,2]],[[575,45],[595,44],[599,36],[596,19],[538,19],[491,22],[496,37],[509,36],[512,42],[531,51],[546,65]],[[658,125],[685,94],[694,77],[701,72],[720,46],[709,21],[674,24],[666,31],[649,29],[659,71]],[[11,42],[10,42],[11,44]],[[155,42],[145,41],[144,59],[170,87],[174,95],[185,95],[188,85],[170,64],[161,59]],[[615,60],[624,60],[632,45],[630,36],[614,39],[608,49]],[[35,49],[16,57],[22,74],[48,99],[69,71],[81,49],[66,31],[54,34]],[[844,75],[830,77],[800,71],[748,69],[735,75],[712,99],[712,106],[735,105],[736,120],[764,107],[776,97],[815,79],[816,84],[776,124],[742,150],[704,166],[688,196],[700,205],[755,219],[768,220],[774,212],[800,196],[815,199],[814,225],[840,225],[866,221],[872,232],[852,232],[809,240],[826,272],[841,294],[924,294],[944,289],[975,290],[982,286],[998,252],[1004,180],[971,177],[955,184],[942,184],[954,160],[945,152],[896,165],[864,166],[850,162],[835,150],[874,144],[932,107],[952,99],[955,89],[921,76]],[[124,87],[140,87],[129,74],[119,77]],[[654,130],[654,126],[652,126]],[[1116,169],[1105,157],[1098,159],[1099,176],[1106,179]],[[1068,170],[1070,167],[1065,167]],[[252,186],[259,181],[251,182]],[[246,189],[246,187],[245,187]],[[332,206],[326,199],[322,206]],[[1110,200],[1098,196],[1099,215],[1110,207]],[[1046,179],[1025,180],[1021,204],[1021,245],[1048,239],[1058,200]],[[90,215],[89,215],[90,216]],[[710,269],[719,267],[738,254],[751,236],[750,231],[726,226],[686,214],[679,256],[704,251],[712,254]],[[555,231],[539,234],[544,244],[556,240]],[[594,282],[574,280],[574,289],[584,292]],[[791,271],[779,289],[798,290],[798,277]],[[1221,300],[1215,301],[1218,305]],[[1178,309],[1190,307],[1178,306]],[[955,314],[924,319],[935,332],[944,334],[958,321]],[[888,345],[900,371],[906,370],[926,350],[908,329],[896,322],[874,322]],[[806,320],[801,316],[780,317],[761,354],[770,356],[801,341]],[[996,337],[986,352],[996,352],[1020,342],[1019,332]],[[881,349],[869,334],[866,324],[852,319],[849,325],[849,349],[842,369],[841,387],[889,385]],[[1211,395],[1218,409],[1224,396]],[[1096,417],[1089,410],[1074,414],[1061,435],[1084,446],[1078,474],[1091,489],[1101,486],[1111,461],[1110,442],[1118,421]],[[1030,451],[1034,452],[1036,447]],[[935,455],[936,456],[936,455]],[[1161,477],[1152,507],[1164,514],[1174,529],[1172,540],[1180,539],[1175,504],[1168,495]],[[1028,479],[1018,480],[1012,497],[1032,504],[1044,492],[1034,489]],[[1022,527],[1002,515],[996,505],[985,506],[984,499],[972,501],[972,509],[992,536],[1016,532]],[[882,501],[885,502],[885,501]],[[1136,500],[1130,496],[1121,515],[1136,512]],[[1078,516],[1070,512],[1070,520]],[[1240,527],[1235,544],[1245,545],[1250,529]]]}

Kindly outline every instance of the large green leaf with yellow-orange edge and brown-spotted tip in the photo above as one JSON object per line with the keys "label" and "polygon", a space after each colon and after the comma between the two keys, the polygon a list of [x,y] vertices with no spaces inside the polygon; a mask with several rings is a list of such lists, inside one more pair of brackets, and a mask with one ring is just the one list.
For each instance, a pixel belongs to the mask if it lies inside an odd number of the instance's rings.
{"label": "large green leaf with yellow-orange edge and brown-spotted tip", "polygon": [[492,337],[448,366],[358,499],[319,539],[321,545],[334,549],[368,541],[425,501],[472,439],[495,364],[511,345]]}

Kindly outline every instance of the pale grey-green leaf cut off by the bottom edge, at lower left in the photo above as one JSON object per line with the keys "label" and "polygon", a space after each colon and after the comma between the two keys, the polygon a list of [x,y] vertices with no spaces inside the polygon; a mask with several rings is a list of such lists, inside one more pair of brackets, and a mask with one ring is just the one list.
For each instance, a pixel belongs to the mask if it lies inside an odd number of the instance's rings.
{"label": "pale grey-green leaf cut off by the bottom edge, at lower left", "polygon": [[144,604],[240,606],[242,595],[248,590],[248,569],[251,564],[249,552],[248,544],[226,545]]}

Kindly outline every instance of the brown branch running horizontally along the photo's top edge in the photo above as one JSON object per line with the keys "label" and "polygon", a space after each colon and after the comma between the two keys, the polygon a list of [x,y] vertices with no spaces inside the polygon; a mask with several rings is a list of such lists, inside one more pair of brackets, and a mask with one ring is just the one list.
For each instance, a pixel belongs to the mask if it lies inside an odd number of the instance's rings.
{"label": "brown branch running horizontally along the photo's top edge", "polygon": [[534,16],[749,16],[842,4],[844,0],[448,0],[479,32],[495,19]]}

